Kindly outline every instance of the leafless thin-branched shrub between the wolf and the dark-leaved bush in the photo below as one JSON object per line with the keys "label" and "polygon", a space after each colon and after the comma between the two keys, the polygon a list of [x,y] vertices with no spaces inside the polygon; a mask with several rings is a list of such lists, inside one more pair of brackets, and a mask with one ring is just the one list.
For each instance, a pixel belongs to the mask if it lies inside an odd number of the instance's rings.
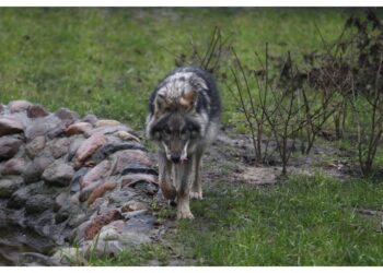
{"label": "leafless thin-branched shrub between the wolf and the dark-leaved bush", "polygon": [[[255,54],[260,69],[245,71],[234,49],[232,52],[236,64],[231,69],[235,91],[229,84],[228,88],[249,128],[256,162],[267,163],[268,135],[271,135],[282,162],[282,175],[286,175],[297,139],[302,134],[306,138],[306,145],[301,141],[302,153],[310,153],[316,135],[336,108],[333,96],[327,95],[318,102],[317,94],[324,93],[307,91],[306,73],[298,70],[290,54],[275,69],[277,73],[271,73],[267,44],[265,62]],[[263,139],[267,139],[265,147]]]}

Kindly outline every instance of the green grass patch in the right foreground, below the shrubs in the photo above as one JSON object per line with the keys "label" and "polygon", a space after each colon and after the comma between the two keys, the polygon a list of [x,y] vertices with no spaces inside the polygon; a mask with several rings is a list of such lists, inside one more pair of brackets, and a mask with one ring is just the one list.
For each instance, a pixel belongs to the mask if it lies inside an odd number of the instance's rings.
{"label": "green grass patch in the right foreground, below the shrubs", "polygon": [[382,183],[293,177],[276,187],[216,183],[175,240],[201,265],[382,265]]}

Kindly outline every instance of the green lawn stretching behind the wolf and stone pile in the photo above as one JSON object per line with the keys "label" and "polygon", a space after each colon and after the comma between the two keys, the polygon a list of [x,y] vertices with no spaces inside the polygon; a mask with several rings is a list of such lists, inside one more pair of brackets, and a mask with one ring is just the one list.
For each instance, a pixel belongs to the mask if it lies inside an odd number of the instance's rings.
{"label": "green lawn stretching behind the wolf and stone pile", "polygon": [[[149,94],[190,55],[206,48],[214,26],[245,64],[265,43],[276,56],[318,49],[321,28],[336,38],[352,9],[0,9],[0,102],[27,99],[49,110],[69,107],[142,129]],[[220,86],[224,120],[237,123],[235,104]]]}

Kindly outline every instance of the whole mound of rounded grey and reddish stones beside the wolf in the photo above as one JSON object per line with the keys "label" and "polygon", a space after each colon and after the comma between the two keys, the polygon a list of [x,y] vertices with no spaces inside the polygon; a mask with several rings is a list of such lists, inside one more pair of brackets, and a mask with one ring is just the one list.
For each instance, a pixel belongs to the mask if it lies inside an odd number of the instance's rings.
{"label": "whole mound of rounded grey and reddish stones beside the wolf", "polygon": [[156,192],[152,161],[129,127],[25,100],[0,104],[0,223],[50,238],[60,262],[153,240]]}

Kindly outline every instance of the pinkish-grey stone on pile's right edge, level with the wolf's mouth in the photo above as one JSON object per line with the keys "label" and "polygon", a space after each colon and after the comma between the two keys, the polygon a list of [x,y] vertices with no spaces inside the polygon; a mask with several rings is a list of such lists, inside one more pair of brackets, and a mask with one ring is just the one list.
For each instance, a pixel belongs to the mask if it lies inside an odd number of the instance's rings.
{"label": "pinkish-grey stone on pile's right edge, level with the wolf's mouth", "polygon": [[141,164],[143,166],[150,167],[152,161],[149,158],[147,153],[139,150],[124,150],[118,151],[112,156],[112,174],[120,174],[128,164]]}

